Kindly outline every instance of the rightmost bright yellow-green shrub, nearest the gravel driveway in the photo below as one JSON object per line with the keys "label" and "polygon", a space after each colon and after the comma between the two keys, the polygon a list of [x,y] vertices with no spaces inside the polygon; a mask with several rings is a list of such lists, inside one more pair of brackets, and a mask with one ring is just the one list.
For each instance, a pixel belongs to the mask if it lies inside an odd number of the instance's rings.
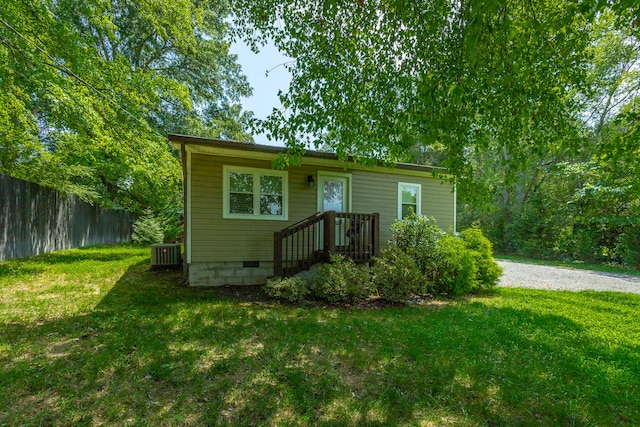
{"label": "rightmost bright yellow-green shrub, nearest the gravel driveway", "polygon": [[467,228],[460,233],[467,249],[473,255],[476,268],[476,285],[480,288],[492,288],[502,276],[502,268],[493,259],[493,248],[478,226]]}

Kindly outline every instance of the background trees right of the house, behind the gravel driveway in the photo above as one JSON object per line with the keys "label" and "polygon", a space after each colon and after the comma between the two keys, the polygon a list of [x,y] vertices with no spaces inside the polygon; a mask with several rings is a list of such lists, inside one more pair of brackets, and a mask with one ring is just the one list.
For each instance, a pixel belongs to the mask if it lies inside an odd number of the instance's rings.
{"label": "background trees right of the house, behind the gravel driveway", "polygon": [[[461,225],[479,218],[498,250],[620,262],[616,242],[637,218],[640,44],[636,28],[618,20],[607,12],[589,24],[585,79],[569,94],[576,114],[561,139],[522,133],[528,155],[519,161],[496,139],[468,150],[472,182],[459,187]],[[525,148],[534,144],[545,149]]]}

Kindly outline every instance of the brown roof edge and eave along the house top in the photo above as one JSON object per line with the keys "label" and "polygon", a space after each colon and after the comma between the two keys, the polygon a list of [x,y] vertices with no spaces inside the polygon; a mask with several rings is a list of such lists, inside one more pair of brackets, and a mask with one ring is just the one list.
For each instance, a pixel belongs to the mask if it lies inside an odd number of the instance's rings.
{"label": "brown roof edge and eave along the house top", "polygon": [[[262,145],[262,144],[254,144],[252,142],[246,141],[232,141],[232,140],[224,140],[224,139],[215,139],[215,138],[204,138],[199,136],[189,136],[189,135],[177,135],[177,134],[169,134],[167,136],[171,145],[174,149],[178,150],[181,148],[182,144],[185,147],[188,147],[188,151],[204,153],[204,154],[219,154],[231,156],[232,153],[235,153],[235,150],[239,152],[243,152],[243,157],[265,157],[265,158],[275,158],[279,154],[283,154],[287,152],[287,149],[284,147],[274,147],[271,145]],[[254,154],[253,156],[248,156],[249,153]],[[341,166],[349,166],[348,163],[352,162],[351,156],[349,156],[349,162],[341,161],[337,155],[333,153],[325,153],[321,151],[313,151],[306,150],[303,156],[303,162],[307,163],[306,160],[318,160],[324,162],[332,162],[337,163]],[[324,163],[323,162],[323,163]],[[313,162],[315,163],[315,162]],[[349,166],[351,167],[351,166]],[[378,167],[386,167],[383,163],[378,163]],[[393,169],[401,169],[406,171],[415,171],[415,172],[430,172],[430,173],[447,173],[447,169],[438,166],[426,166],[426,165],[418,165],[413,163],[395,163],[392,166]]]}

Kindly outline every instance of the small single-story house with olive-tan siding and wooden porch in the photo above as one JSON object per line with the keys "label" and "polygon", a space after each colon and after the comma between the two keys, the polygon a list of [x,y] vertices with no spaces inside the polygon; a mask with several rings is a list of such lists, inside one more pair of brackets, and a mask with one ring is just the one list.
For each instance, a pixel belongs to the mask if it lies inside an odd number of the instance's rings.
{"label": "small single-story house with olive-tan siding and wooden porch", "polygon": [[330,253],[368,262],[410,210],[455,232],[455,185],[442,168],[366,167],[307,151],[300,166],[278,170],[272,161],[284,148],[173,134],[169,141],[182,158],[190,285],[260,284]]}

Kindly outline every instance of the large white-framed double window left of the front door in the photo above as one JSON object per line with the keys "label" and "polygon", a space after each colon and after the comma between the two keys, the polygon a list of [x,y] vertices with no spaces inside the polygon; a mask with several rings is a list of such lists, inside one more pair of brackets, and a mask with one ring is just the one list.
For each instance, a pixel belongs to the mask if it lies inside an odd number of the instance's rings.
{"label": "large white-framed double window left of the front door", "polygon": [[223,166],[223,218],[288,218],[288,173]]}

